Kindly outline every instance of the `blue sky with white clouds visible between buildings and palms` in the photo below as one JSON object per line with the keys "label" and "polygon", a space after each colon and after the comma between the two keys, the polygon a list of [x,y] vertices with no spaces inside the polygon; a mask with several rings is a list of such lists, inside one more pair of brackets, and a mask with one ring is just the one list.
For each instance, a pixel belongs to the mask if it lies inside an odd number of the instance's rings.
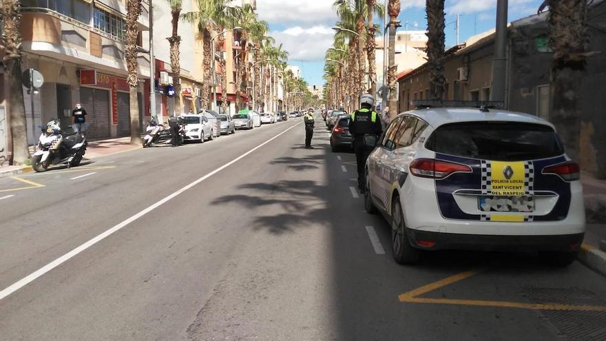
{"label": "blue sky with white clouds visible between buildings and palms", "polygon": [[[379,0],[381,3],[382,0]],[[543,0],[509,0],[508,21],[535,14]],[[324,54],[333,43],[331,27],[337,21],[334,0],[257,0],[260,19],[289,52],[289,64],[298,65],[310,85],[322,85]],[[460,16],[459,41],[494,28],[497,0],[446,0],[446,47],[457,43],[454,22]],[[375,16],[376,17],[376,16]],[[399,15],[408,30],[426,30],[425,0],[401,0]],[[375,19],[376,23],[379,23]]]}

